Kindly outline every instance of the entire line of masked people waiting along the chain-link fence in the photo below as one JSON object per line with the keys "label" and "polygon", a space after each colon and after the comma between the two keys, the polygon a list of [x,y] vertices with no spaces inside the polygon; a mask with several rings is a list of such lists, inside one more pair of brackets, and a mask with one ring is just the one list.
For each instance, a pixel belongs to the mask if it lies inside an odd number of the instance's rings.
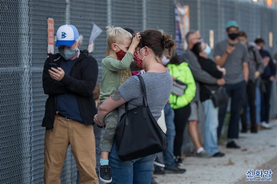
{"label": "entire line of masked people waiting along the chain-link fence", "polygon": [[[235,21],[227,23],[226,31],[228,38],[215,46],[214,62],[208,58],[211,48],[198,31],[187,33],[188,48],[177,55],[170,35],[153,29],[134,34],[131,29],[107,27],[108,47],[99,86],[96,60],[78,49],[82,36],[75,26],[62,25],[56,34],[59,52],[48,55],[43,70],[43,89],[49,95],[42,122],[46,127],[45,183],[60,183],[69,144],[81,183],[150,183],[154,165],[154,174],[184,173],[180,166],[186,125],[197,156],[224,156],[218,140],[227,102],[215,105],[210,87],[223,89],[231,98],[227,148],[240,148],[235,139],[239,138],[240,117],[241,132],[248,130],[248,105],[251,132],[258,131],[257,88],[261,126],[270,128],[269,101],[276,68],[270,54],[263,50],[265,42],[261,38],[247,42],[247,34],[239,31]],[[134,109],[144,103],[140,80],[132,74],[141,74],[147,104],[156,121],[163,110],[168,146],[158,156],[122,162],[115,134],[125,113],[124,104],[128,102],[128,109]],[[172,85],[180,82],[186,84],[183,93],[171,93]],[[204,135],[199,130],[199,105],[204,109]]]}

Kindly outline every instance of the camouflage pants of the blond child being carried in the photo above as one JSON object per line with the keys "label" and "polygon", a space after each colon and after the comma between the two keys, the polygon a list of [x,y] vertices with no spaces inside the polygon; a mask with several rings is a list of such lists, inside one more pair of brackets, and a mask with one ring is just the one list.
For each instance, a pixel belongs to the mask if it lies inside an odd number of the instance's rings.
{"label": "camouflage pants of the blond child being carried", "polygon": [[114,109],[110,113],[108,113],[105,117],[106,128],[102,131],[103,139],[101,145],[101,151],[109,151],[111,150],[114,144],[115,137],[115,129],[118,124],[118,110]]}

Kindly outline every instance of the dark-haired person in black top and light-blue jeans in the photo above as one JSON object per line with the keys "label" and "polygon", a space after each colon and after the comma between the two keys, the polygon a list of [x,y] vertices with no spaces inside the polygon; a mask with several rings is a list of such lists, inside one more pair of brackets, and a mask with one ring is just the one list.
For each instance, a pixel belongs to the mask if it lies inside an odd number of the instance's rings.
{"label": "dark-haired person in black top and light-blue jeans", "polygon": [[[223,75],[226,75],[225,68],[220,68],[216,64],[208,59],[205,52],[206,44],[203,42],[196,43],[191,51],[197,56],[198,62],[202,69],[207,71],[213,77],[221,79]],[[225,154],[218,150],[217,145],[217,127],[218,127],[218,107],[215,107],[208,89],[205,87],[208,84],[200,84],[200,100],[204,106],[205,113],[205,150],[213,157],[222,157]]]}

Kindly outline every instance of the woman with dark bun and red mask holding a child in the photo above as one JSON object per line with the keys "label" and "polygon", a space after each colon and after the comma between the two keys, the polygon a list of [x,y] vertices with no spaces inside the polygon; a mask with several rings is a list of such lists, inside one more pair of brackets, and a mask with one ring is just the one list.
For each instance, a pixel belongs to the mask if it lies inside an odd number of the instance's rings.
{"label": "woman with dark bun and red mask holding a child", "polygon": [[[161,58],[165,49],[171,53],[174,46],[175,42],[171,40],[170,35],[148,29],[141,32],[141,41],[134,53],[134,61],[137,66],[147,71],[141,76],[146,86],[148,106],[156,121],[161,117],[161,111],[166,105],[172,89],[172,78],[163,66]],[[118,108],[118,117],[120,118],[125,113],[124,104],[126,102],[129,102],[128,109],[143,105],[142,89],[137,76],[127,79],[114,94],[99,106],[94,122],[104,126],[104,117],[115,108]],[[118,157],[117,145],[114,141],[109,154],[112,182],[150,183],[155,157],[156,154],[153,154],[122,162]]]}

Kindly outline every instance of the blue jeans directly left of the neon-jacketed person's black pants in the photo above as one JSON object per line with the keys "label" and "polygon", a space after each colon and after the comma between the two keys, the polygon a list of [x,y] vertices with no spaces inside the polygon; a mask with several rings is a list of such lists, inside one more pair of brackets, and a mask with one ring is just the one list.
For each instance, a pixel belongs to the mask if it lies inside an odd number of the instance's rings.
{"label": "blue jeans directly left of the neon-jacketed person's black pants", "polygon": [[167,149],[163,151],[163,161],[166,166],[175,164],[174,159],[174,138],[175,138],[175,125],[174,125],[174,110],[170,104],[167,103],[164,107],[164,117],[167,126]]}

